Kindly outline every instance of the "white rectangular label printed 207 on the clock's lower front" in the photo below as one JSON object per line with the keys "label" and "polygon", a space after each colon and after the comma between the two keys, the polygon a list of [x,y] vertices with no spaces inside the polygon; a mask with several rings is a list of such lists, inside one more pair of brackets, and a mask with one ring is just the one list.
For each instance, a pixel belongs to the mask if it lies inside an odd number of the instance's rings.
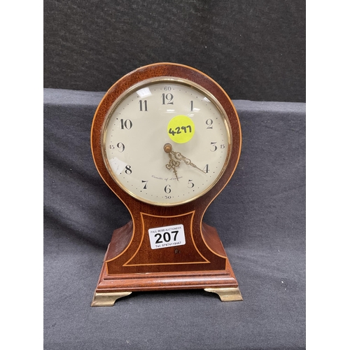
{"label": "white rectangular label printed 207 on the clock's lower front", "polygon": [[186,244],[183,225],[150,228],[148,230],[151,248],[168,248],[169,246],[183,246]]}

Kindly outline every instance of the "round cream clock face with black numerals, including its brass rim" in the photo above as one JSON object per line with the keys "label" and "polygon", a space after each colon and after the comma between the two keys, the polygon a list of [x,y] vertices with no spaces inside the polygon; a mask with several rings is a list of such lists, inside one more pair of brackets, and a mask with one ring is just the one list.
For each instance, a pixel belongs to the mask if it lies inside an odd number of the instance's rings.
{"label": "round cream clock face with black numerals, including its brass rim", "polygon": [[163,77],[125,91],[102,138],[106,168],[125,192],[174,206],[204,195],[220,179],[232,136],[225,111],[207,90]]}

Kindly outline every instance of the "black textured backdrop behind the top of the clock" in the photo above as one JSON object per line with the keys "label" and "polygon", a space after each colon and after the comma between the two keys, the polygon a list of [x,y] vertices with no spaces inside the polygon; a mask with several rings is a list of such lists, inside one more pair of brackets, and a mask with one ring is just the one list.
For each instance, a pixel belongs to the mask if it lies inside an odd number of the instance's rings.
{"label": "black textured backdrop behind the top of the clock", "polygon": [[106,91],[175,62],[235,99],[305,102],[304,0],[45,0],[44,87]]}

